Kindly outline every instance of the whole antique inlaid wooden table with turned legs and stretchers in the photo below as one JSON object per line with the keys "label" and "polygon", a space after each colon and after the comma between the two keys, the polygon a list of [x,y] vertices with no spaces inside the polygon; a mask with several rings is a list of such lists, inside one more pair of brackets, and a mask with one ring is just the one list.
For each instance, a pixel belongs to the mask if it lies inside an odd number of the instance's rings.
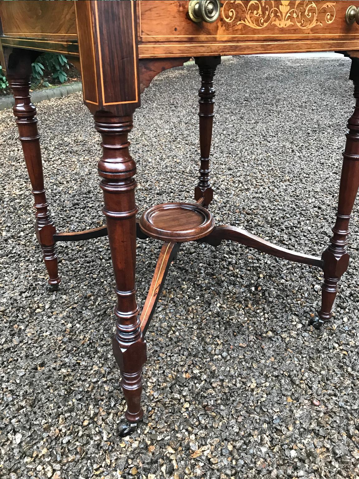
{"label": "whole antique inlaid wooden table with turned legs and stretchers", "polygon": [[[310,323],[319,328],[332,315],[338,281],[348,268],[348,224],[359,186],[359,1],[6,1],[0,5],[1,65],[15,98],[13,112],[35,199],[36,234],[50,289],[58,288],[56,242],[108,235],[118,297],[113,353],[122,374],[129,425],[140,406],[145,333],[170,262],[181,242],[218,245],[228,239],[324,271],[322,306]],[[343,153],[337,219],[321,257],[290,251],[240,228],[217,226],[209,157],[215,91],[221,55],[327,51],[351,58],[356,107]],[[84,103],[102,136],[98,168],[107,226],[57,233],[45,196],[36,110],[29,88],[31,63],[40,52],[58,52],[81,69]],[[132,115],[141,91],[160,71],[194,57],[199,90],[201,166],[194,202],[155,205],[136,221],[136,164],[129,153]],[[183,132],[185,134],[185,132]],[[163,242],[145,305],[139,314],[135,290],[136,236]]]}

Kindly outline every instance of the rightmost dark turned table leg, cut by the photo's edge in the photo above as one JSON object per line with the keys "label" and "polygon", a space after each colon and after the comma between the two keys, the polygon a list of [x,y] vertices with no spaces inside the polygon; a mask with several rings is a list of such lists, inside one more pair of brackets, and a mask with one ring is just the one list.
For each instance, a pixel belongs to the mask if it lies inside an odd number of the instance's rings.
{"label": "rightmost dark turned table leg, cut by the photo's edge", "polygon": [[338,292],[338,281],[348,269],[347,250],[349,220],[359,187],[359,59],[353,58],[350,80],[354,83],[356,106],[348,120],[347,141],[343,153],[343,166],[340,179],[337,220],[332,228],[330,245],[323,252],[324,283],[322,287],[322,306],[319,318],[310,321],[319,328],[332,316],[332,307]]}

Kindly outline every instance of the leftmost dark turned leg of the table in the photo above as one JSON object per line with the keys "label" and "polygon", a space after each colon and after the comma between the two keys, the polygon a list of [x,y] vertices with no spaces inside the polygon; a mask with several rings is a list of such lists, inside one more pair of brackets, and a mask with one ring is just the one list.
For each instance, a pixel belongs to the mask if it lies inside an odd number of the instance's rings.
{"label": "leftmost dark turned leg of the table", "polygon": [[[22,52],[22,57],[24,56],[26,56],[26,52]],[[14,62],[14,59],[12,59],[12,61]],[[31,66],[30,59],[27,59],[27,63],[30,63]],[[49,275],[49,289],[50,291],[55,291],[60,284],[56,246],[53,238],[56,233],[56,228],[52,221],[45,195],[44,173],[39,142],[40,136],[37,130],[37,118],[35,116],[36,108],[33,103],[31,103],[29,94],[31,86],[30,74],[17,78],[16,73],[16,68],[12,73],[11,70],[10,73],[8,73],[9,86],[13,91],[15,99],[13,113],[19,129],[23,155],[33,188],[32,193],[34,195],[34,207],[36,210],[36,237],[44,254],[45,266]],[[20,73],[22,73],[21,68]]]}

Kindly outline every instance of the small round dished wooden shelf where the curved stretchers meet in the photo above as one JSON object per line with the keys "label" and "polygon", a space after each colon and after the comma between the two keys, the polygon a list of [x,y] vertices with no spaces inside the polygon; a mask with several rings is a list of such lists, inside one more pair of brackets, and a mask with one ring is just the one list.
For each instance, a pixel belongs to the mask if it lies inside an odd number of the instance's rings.
{"label": "small round dished wooden shelf where the curved stretchers meet", "polygon": [[146,235],[162,241],[195,241],[211,233],[214,219],[195,203],[162,203],[145,211],[140,227]]}

